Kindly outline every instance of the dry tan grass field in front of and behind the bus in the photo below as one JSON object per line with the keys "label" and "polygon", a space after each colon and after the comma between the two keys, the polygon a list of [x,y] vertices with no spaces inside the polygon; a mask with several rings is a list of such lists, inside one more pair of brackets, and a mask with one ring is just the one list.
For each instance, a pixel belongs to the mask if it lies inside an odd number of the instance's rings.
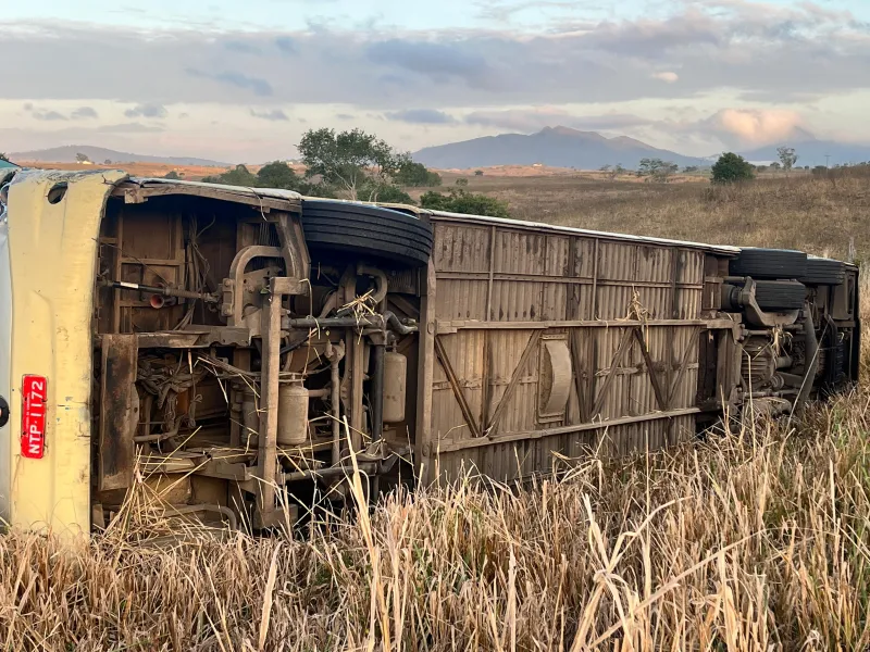
{"label": "dry tan grass field in front of and behind the bus", "polygon": [[[517,217],[843,254],[870,179],[473,179]],[[863,289],[865,306],[870,291]],[[865,315],[867,319],[870,315]],[[865,338],[868,341],[868,338]],[[0,537],[5,650],[866,650],[870,392],[521,491],[390,496],[306,538]]]}

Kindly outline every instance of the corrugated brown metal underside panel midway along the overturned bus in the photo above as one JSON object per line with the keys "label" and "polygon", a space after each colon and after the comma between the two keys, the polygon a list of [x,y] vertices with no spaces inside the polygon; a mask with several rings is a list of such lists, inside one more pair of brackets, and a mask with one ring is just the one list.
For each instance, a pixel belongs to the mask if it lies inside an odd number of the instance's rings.
{"label": "corrugated brown metal underside panel midway along the overturned bus", "polygon": [[[514,442],[497,439],[499,435],[531,434],[566,423],[587,423],[591,418],[606,423],[660,412],[642,344],[630,333],[624,355],[614,363],[626,327],[611,324],[560,326],[544,333],[568,331],[574,377],[564,421],[539,416],[542,344],[535,346],[527,364],[518,372],[533,330],[511,327],[511,323],[697,318],[703,292],[703,252],[596,241],[586,236],[515,230],[507,226],[482,228],[476,224],[463,226],[437,220],[434,225],[437,318],[505,324],[504,329],[462,329],[455,335],[437,336],[483,430],[502,401],[511,377],[519,374],[510,402],[492,429],[495,439],[483,446],[440,453],[443,477],[457,477],[462,468],[473,467],[494,478],[510,480],[549,471],[554,452],[576,457],[588,448],[602,446],[608,454],[624,454],[660,448],[694,432],[694,417],[689,415]],[[486,305],[490,309],[488,314]],[[670,400],[670,409],[694,405],[698,378],[696,331],[695,326],[676,325],[644,329],[652,373],[662,388],[662,400],[666,403]],[[689,350],[684,356],[686,347]],[[684,359],[686,369],[678,383],[679,366]],[[596,399],[600,411],[592,414]],[[436,364],[433,430],[440,437],[442,446],[469,442],[471,430],[465,421],[443,368]],[[439,442],[435,442],[436,449]]]}

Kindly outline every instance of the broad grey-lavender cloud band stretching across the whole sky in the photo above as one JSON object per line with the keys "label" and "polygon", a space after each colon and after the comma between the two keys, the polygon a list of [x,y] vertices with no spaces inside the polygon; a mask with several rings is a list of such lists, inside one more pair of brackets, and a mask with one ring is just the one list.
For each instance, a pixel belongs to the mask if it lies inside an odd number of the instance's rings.
{"label": "broad grey-lavender cloud band stretching across the whole sky", "polygon": [[[13,23],[0,33],[0,60],[16,62],[3,71],[0,93],[37,104],[107,100],[243,110],[248,93],[275,104],[341,104],[382,113],[407,106],[455,112],[462,106],[694,102],[723,89],[766,102],[807,102],[870,88],[870,35],[848,12],[751,0],[669,7],[631,20],[566,20],[534,34],[520,27],[425,35],[386,28],[238,29],[215,38],[181,29]],[[259,49],[256,68],[234,70],[227,42]],[[64,62],[63,75],[57,74],[57,61]],[[92,74],[94,61],[100,62],[99,75]],[[144,70],[160,75],[130,74]],[[679,83],[669,83],[668,73],[679,73]]]}

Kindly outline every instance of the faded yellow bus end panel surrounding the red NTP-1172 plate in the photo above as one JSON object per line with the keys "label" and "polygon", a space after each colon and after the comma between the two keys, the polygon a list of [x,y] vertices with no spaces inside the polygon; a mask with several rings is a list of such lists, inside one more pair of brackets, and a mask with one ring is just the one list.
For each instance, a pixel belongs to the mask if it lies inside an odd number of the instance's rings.
{"label": "faded yellow bus end panel surrounding the red NTP-1172 plate", "polygon": [[[9,192],[12,290],[11,419],[0,478],[13,526],[55,534],[90,527],[91,314],[97,238],[105,201],[121,172],[27,172]],[[66,184],[60,201],[49,191]],[[25,374],[48,378],[46,453],[21,456]]]}

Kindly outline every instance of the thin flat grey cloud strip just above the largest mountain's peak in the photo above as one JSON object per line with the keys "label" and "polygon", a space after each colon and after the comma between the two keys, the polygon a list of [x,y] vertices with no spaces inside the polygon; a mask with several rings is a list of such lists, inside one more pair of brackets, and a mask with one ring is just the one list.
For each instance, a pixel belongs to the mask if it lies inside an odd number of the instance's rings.
{"label": "thin flat grey cloud strip just above the largest mountain's peak", "polygon": [[607,131],[645,126],[654,121],[625,113],[576,115],[563,109],[538,108],[473,111],[464,116],[464,122],[469,125],[531,133],[556,126]]}

